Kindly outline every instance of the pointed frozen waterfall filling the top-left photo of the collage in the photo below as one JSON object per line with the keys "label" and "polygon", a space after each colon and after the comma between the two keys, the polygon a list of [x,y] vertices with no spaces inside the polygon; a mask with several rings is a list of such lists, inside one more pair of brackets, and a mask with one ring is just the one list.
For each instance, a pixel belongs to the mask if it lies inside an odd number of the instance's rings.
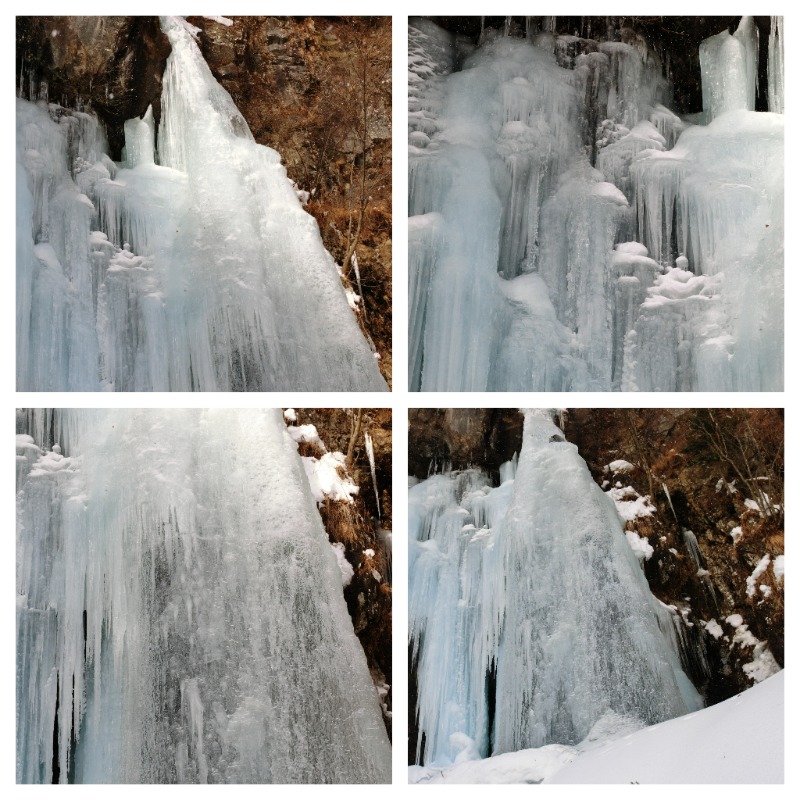
{"label": "pointed frozen waterfall filling the top-left photo of the collage", "polygon": [[21,390],[383,391],[336,265],[184,22],[162,117],[17,100]]}

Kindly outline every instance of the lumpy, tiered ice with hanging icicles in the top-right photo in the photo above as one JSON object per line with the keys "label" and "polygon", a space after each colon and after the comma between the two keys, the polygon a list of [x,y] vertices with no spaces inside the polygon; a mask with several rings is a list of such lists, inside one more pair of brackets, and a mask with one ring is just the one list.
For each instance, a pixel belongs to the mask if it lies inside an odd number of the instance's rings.
{"label": "lumpy, tiered ice with hanging icicles in the top-right photo", "polygon": [[[410,388],[781,390],[783,116],[752,110],[752,18],[703,43],[705,125],[631,31],[525,27],[467,52],[409,26]],[[773,111],[782,41],[775,18]]]}

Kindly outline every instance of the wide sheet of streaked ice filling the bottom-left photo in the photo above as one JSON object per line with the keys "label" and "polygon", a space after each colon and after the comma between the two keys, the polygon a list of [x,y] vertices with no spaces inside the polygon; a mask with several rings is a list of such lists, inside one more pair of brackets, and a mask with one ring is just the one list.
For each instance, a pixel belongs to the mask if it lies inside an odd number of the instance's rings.
{"label": "wide sheet of streaked ice filling the bottom-left photo", "polygon": [[35,410],[18,430],[18,781],[390,781],[280,410]]}

